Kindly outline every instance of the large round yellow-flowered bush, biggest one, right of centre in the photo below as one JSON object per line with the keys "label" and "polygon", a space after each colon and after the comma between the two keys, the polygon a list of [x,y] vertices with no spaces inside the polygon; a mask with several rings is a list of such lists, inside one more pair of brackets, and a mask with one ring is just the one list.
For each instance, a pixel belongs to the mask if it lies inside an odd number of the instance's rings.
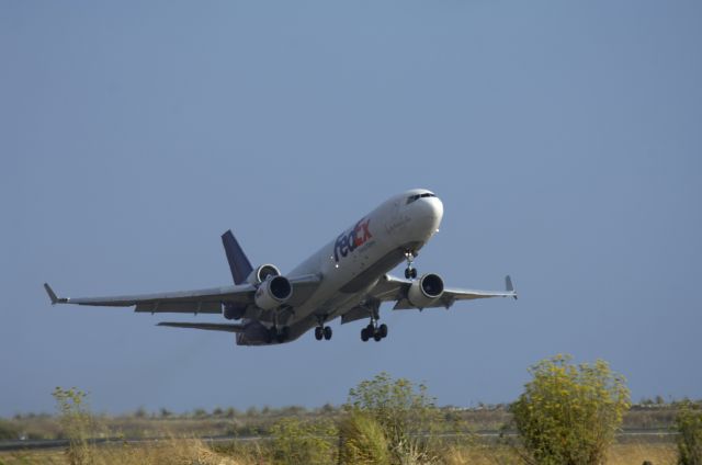
{"label": "large round yellow-flowered bush, biggest one, right of centre", "polygon": [[570,360],[556,355],[532,366],[533,379],[510,406],[529,463],[603,463],[630,407],[624,377],[607,362],[575,365]]}

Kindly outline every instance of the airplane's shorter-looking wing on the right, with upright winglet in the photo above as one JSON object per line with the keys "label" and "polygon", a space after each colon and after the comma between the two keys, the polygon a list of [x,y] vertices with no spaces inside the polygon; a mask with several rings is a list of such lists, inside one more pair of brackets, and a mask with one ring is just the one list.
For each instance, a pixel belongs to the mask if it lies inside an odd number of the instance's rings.
{"label": "airplane's shorter-looking wing on the right, with upright winglet", "polygon": [[[407,299],[407,293],[409,286],[412,284],[410,280],[404,280],[390,275],[385,275],[376,286],[370,292],[371,298],[380,302],[396,300],[394,310],[406,310],[417,308]],[[505,276],[505,291],[477,291],[477,290],[464,290],[455,287],[446,287],[443,294],[424,308],[450,308],[456,300],[472,300],[475,298],[489,298],[489,297],[512,297],[517,298],[517,292],[512,285],[510,276]]]}

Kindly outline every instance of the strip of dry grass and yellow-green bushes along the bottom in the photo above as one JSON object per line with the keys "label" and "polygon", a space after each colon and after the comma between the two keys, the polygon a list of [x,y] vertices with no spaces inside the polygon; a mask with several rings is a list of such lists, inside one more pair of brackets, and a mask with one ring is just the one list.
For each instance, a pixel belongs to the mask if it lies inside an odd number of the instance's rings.
{"label": "strip of dry grass and yellow-green bushes along the bottom", "polygon": [[[341,408],[327,404],[314,410],[217,407],[178,413],[140,407],[114,418],[93,415],[83,392],[56,388],[57,416],[0,419],[0,436],[66,439],[67,451],[0,452],[0,465],[700,465],[702,402],[666,404],[658,396],[625,412],[629,390],[604,362],[574,365],[569,358],[556,356],[537,363],[531,373],[532,381],[511,406],[480,404],[471,409],[439,408],[424,385],[387,373],[352,388]],[[610,446],[622,418],[630,428],[675,424],[678,451],[670,436]],[[511,424],[520,441],[473,436],[467,424],[487,430]],[[458,434],[444,434],[454,432]],[[513,438],[513,430],[506,432]],[[197,439],[223,434],[261,438]],[[120,438],[152,440],[132,443]]]}

